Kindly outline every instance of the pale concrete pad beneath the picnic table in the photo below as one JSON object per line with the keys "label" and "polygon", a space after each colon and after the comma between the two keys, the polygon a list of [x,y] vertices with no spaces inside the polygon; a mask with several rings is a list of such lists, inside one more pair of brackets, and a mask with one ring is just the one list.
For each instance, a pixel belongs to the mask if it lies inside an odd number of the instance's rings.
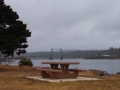
{"label": "pale concrete pad beneath the picnic table", "polygon": [[100,80],[100,79],[97,79],[97,78],[87,78],[87,77],[78,77],[78,78],[73,78],[73,79],[51,79],[51,78],[42,78],[41,76],[29,76],[27,78],[41,80],[41,81],[48,81],[48,82]]}

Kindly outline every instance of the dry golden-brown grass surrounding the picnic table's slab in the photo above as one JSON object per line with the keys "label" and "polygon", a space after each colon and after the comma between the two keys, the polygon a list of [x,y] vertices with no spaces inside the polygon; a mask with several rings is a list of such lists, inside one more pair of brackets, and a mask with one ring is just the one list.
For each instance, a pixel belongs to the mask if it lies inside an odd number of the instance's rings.
{"label": "dry golden-brown grass surrounding the picnic table's slab", "polygon": [[100,77],[91,71],[81,71],[80,76],[97,77],[103,80],[60,83],[25,78],[35,75],[40,75],[40,71],[32,67],[0,65],[0,90],[120,90],[120,75]]}

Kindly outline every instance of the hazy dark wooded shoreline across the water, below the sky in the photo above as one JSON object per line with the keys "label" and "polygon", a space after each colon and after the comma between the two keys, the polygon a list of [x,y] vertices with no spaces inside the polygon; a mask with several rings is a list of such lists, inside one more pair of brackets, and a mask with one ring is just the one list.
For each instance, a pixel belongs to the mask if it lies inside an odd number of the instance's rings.
{"label": "hazy dark wooded shoreline across the water, below the sky", "polygon": [[[110,47],[107,50],[74,50],[74,51],[64,51],[62,52],[63,59],[64,58],[86,58],[86,57],[94,57],[94,56],[117,56],[120,57],[120,48],[112,48]],[[39,58],[49,58],[50,52],[28,52],[26,54],[21,54],[19,57],[39,57]],[[61,52],[56,51],[53,52],[53,58],[60,59]],[[107,58],[107,57],[106,57]]]}

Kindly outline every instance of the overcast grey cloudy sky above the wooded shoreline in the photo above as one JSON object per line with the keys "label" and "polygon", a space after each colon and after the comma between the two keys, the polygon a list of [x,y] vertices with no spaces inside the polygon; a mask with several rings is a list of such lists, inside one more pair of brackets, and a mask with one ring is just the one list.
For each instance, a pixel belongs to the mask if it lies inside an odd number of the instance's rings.
{"label": "overcast grey cloudy sky above the wooded shoreline", "polygon": [[27,24],[28,52],[120,47],[120,0],[5,0]]}

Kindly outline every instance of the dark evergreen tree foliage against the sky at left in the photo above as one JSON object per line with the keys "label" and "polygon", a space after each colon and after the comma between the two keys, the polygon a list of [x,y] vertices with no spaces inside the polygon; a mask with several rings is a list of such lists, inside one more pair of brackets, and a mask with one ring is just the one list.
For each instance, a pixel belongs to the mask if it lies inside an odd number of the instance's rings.
{"label": "dark evergreen tree foliage against the sky at left", "polygon": [[6,56],[14,56],[26,53],[27,37],[31,32],[27,25],[18,20],[17,12],[0,0],[0,52]]}

